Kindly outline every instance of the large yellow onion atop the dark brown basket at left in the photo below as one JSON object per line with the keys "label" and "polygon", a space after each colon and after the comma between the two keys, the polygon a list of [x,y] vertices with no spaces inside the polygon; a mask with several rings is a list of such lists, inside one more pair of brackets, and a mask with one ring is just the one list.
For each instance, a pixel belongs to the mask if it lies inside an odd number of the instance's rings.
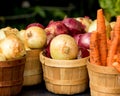
{"label": "large yellow onion atop the dark brown basket at left", "polygon": [[1,40],[0,48],[7,60],[19,58],[26,54],[23,42],[14,34],[10,34]]}

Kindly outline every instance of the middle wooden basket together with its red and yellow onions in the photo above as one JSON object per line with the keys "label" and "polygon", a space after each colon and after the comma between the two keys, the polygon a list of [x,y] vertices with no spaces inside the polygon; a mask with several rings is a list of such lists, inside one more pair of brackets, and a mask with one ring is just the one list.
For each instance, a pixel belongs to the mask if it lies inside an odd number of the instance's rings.
{"label": "middle wooden basket together with its red and yellow onions", "polygon": [[[75,36],[81,32],[87,33],[81,23],[75,19],[64,20],[50,21],[45,28],[47,46],[40,52],[39,57],[47,90],[55,94],[73,95],[84,92],[89,87],[86,68],[89,52],[84,51],[85,55],[81,53],[76,42],[79,37]],[[90,36],[90,34],[85,36],[89,37],[88,35]]]}

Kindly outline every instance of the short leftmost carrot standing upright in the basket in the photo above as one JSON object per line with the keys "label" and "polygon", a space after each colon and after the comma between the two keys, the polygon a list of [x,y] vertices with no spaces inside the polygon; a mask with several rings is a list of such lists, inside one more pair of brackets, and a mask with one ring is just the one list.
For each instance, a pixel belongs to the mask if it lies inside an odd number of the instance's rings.
{"label": "short leftmost carrot standing upright in the basket", "polygon": [[93,31],[90,36],[90,63],[101,65],[98,49],[98,33]]}

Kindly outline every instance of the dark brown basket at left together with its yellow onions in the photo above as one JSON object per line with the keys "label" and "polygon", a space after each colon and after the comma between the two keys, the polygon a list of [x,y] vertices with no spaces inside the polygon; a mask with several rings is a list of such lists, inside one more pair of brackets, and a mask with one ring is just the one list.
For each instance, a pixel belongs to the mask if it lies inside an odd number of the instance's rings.
{"label": "dark brown basket at left together with its yellow onions", "polygon": [[14,96],[23,86],[26,50],[16,28],[0,29],[0,95]]}

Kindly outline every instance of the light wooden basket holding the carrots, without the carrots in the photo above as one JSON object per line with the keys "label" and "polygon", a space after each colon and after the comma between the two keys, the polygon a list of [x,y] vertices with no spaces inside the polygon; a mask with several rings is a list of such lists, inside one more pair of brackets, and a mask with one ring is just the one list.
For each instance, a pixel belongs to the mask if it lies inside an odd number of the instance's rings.
{"label": "light wooden basket holding the carrots, without the carrots", "polygon": [[91,96],[120,96],[120,73],[114,67],[87,64]]}

